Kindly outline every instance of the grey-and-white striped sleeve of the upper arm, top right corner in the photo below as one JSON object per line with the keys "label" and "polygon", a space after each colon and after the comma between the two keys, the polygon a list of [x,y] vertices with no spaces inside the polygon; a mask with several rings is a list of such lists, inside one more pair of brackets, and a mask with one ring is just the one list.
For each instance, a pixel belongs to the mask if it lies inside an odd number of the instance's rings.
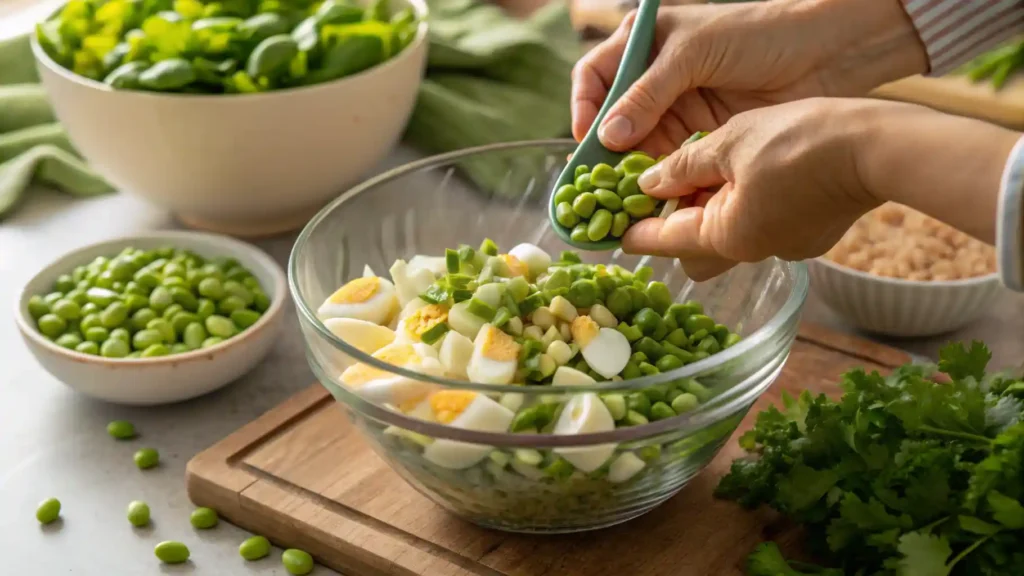
{"label": "grey-and-white striped sleeve of the upper arm, top right corner", "polygon": [[901,1],[928,51],[930,76],[1024,34],[1024,0]]}

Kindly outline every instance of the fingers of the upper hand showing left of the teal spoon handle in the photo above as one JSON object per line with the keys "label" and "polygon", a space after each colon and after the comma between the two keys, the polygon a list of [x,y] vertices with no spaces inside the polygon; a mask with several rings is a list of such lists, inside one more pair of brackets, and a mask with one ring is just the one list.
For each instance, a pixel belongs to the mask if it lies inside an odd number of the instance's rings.
{"label": "fingers of the upper hand showing left of the teal spoon handle", "polygon": [[615,79],[618,61],[626,49],[626,40],[636,14],[632,13],[607,40],[595,46],[572,68],[572,137],[583,140],[597,113],[604,105],[608,88]]}

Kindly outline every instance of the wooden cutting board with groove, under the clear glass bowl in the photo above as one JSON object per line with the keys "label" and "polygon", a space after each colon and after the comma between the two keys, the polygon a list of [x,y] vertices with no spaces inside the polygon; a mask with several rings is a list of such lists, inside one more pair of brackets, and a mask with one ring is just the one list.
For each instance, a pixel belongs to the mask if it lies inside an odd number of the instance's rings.
{"label": "wooden cutting board with groove, under the clear glass bowl", "polygon": [[[805,325],[775,384],[838,394],[854,366],[886,371],[900,351]],[[797,531],[767,510],[712,498],[734,436],[711,465],[648,515],[601,531],[524,536],[459,520],[409,487],[362,442],[321,385],[310,386],[188,462],[188,495],[282,546],[309,551],[346,576],[739,576],[760,541],[791,550]]]}

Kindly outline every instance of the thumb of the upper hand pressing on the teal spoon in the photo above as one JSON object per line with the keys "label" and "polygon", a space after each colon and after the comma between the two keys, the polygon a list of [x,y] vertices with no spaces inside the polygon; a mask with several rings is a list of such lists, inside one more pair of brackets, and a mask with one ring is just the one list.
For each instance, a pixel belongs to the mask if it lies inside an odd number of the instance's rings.
{"label": "thumb of the upper hand pressing on the teal spoon", "polygon": [[662,52],[650,68],[615,102],[598,131],[610,150],[625,151],[642,141],[669,108],[693,87],[689,67],[681,66],[677,51]]}

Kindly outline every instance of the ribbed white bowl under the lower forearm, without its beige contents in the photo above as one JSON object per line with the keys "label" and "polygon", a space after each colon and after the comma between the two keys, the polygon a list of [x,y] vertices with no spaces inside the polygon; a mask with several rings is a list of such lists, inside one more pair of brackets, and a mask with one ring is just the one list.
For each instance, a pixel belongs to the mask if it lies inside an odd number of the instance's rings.
{"label": "ribbed white bowl under the lower forearm, without its beige contents", "polygon": [[925,282],[873,276],[826,258],[808,262],[811,286],[848,322],[888,336],[934,336],[977,320],[1001,285],[996,275]]}

